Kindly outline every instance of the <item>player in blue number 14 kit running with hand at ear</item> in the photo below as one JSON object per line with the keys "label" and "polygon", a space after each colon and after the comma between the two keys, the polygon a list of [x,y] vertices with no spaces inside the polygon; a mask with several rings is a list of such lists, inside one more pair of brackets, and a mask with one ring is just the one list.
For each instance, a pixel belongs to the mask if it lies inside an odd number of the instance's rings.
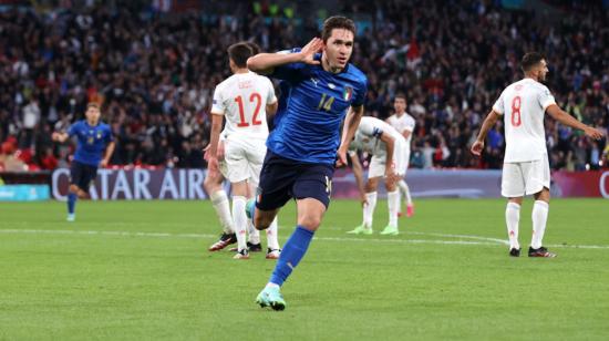
{"label": "player in blue number 14 kit running with hand at ear", "polygon": [[287,82],[282,87],[289,91],[285,111],[267,141],[258,196],[248,203],[248,215],[256,228],[265,229],[290,198],[296,199],[298,210],[298,226],[256,299],[261,307],[286,308],[280,287],[307,252],[328,209],[334,164],[347,164],[368,83],[349,63],[354,35],[352,20],[331,17],[323,23],[321,39],[312,39],[302,49],[260,53],[248,60],[251,71]]}

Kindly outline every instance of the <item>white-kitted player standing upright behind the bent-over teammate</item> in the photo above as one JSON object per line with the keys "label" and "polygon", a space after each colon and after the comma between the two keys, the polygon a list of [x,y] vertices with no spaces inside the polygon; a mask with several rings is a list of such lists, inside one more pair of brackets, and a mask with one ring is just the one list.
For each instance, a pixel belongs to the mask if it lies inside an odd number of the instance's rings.
{"label": "white-kitted player standing upright behind the bent-over teammate", "polygon": [[[398,133],[402,134],[402,136],[404,136],[404,138],[406,140],[406,154],[404,156],[404,159],[406,162],[407,172],[410,164],[410,146],[412,132],[414,131],[416,122],[414,121],[414,117],[406,113],[406,96],[403,93],[398,93],[395,95],[395,99],[393,100],[393,108],[395,110],[395,113],[386,118],[386,123],[394,127]],[[404,176],[406,174],[404,172]],[[400,194],[406,198],[406,217],[410,218],[414,215],[414,204],[412,203],[412,197],[410,195],[409,184],[406,184],[403,177],[400,179],[400,182],[398,182],[398,188],[400,189]],[[400,203],[402,203],[401,199]],[[400,213],[401,211],[402,210],[400,209]]]}

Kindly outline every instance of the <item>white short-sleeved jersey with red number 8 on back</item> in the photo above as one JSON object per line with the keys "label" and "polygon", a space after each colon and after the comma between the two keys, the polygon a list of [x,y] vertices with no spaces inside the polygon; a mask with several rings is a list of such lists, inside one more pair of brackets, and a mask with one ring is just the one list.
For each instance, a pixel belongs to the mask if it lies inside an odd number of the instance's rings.
{"label": "white short-sleeved jersey with red number 8 on back", "polygon": [[524,79],[507,86],[493,110],[504,116],[506,163],[541,159],[546,149],[544,114],[556,104],[544,84]]}

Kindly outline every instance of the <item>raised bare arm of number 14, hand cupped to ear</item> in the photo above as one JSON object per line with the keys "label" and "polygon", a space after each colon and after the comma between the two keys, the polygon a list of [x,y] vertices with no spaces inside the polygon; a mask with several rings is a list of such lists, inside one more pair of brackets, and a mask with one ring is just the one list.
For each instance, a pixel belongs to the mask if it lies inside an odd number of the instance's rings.
{"label": "raised bare arm of number 14, hand cupped to ear", "polygon": [[276,66],[291,63],[319,64],[314,54],[321,50],[323,41],[313,38],[304,48],[297,53],[258,53],[247,60],[247,69],[258,74],[270,74]]}

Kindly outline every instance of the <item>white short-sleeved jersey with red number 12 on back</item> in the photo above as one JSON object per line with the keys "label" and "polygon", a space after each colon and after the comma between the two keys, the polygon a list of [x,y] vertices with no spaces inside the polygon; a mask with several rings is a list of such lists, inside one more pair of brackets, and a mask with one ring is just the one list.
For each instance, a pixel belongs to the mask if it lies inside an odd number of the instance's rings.
{"label": "white short-sleeved jersey with red number 12 on back", "polygon": [[275,102],[275,89],[268,78],[254,72],[236,73],[216,86],[211,114],[226,116],[227,137],[266,140],[266,107]]}

